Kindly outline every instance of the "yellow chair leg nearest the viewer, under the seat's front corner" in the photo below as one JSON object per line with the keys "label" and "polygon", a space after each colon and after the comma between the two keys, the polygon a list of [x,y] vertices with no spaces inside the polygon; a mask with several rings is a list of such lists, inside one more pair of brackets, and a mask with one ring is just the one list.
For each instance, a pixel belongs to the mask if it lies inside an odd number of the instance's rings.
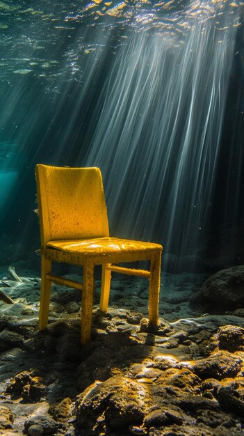
{"label": "yellow chair leg nearest the viewer, under the seat's front corner", "polygon": [[86,260],[83,265],[83,290],[81,306],[81,345],[90,341],[94,292],[94,263]]}

